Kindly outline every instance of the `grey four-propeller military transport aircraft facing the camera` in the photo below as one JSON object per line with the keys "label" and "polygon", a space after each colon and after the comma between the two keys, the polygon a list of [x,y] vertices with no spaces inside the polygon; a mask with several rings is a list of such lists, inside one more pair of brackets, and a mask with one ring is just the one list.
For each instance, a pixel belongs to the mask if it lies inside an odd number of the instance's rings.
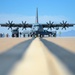
{"label": "grey four-propeller military transport aircraft facing the camera", "polygon": [[13,21],[8,21],[6,24],[0,24],[1,27],[8,27],[12,29],[12,27],[17,27],[15,30],[12,30],[12,37],[16,35],[16,37],[19,37],[19,28],[26,29],[26,28],[31,28],[31,30],[25,30],[21,34],[25,36],[25,34],[28,34],[29,36],[34,36],[34,37],[44,37],[44,35],[53,35],[54,37],[56,36],[56,32],[44,30],[44,28],[56,28],[56,30],[59,29],[59,27],[62,27],[62,29],[66,30],[66,27],[73,27],[75,24],[69,24],[67,21],[62,21],[59,24],[54,24],[54,22],[49,21],[46,24],[40,24],[38,22],[38,8],[36,9],[36,22],[34,24],[28,24],[22,21],[22,23],[15,24]]}

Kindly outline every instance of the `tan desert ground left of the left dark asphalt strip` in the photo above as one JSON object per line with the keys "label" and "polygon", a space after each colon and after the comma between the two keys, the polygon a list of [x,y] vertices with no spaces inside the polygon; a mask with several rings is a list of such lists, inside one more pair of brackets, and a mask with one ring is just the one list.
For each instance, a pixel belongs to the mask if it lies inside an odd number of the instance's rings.
{"label": "tan desert ground left of the left dark asphalt strip", "polygon": [[3,53],[13,46],[28,39],[30,38],[0,38],[0,53]]}

